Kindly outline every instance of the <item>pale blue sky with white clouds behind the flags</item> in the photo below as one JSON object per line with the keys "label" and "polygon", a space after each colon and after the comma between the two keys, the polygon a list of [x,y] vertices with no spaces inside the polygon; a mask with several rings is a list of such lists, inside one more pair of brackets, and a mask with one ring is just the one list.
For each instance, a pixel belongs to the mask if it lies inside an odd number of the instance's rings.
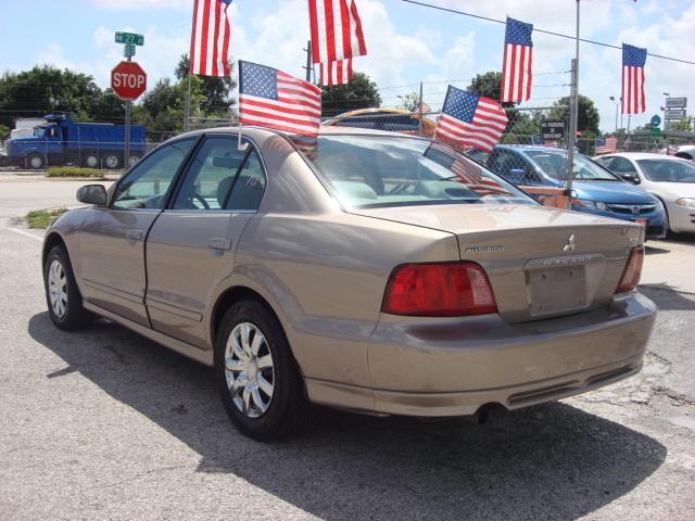
{"label": "pale blue sky with white clouds behind the flags", "polygon": [[[355,69],[379,86],[383,106],[424,81],[425,101],[440,109],[446,85],[465,88],[480,73],[502,68],[504,25],[445,13],[401,0],[355,0],[368,55]],[[511,16],[535,28],[574,34],[574,0],[424,0],[497,20]],[[149,86],[173,77],[188,52],[193,0],[0,0],[0,72],[35,64],[70,67],[109,86],[123,47],[116,30],[144,35],[135,58]],[[308,36],[306,0],[235,0],[231,54],[303,77]],[[695,61],[695,2],[692,0],[581,0],[582,38],[615,46],[646,47],[654,54]],[[532,99],[522,106],[547,106],[569,93],[574,41],[533,34]],[[620,96],[621,53],[590,43],[580,46],[579,90],[596,103],[601,128],[612,131]],[[632,128],[660,114],[664,92],[695,103],[695,65],[654,56],[645,67],[647,112],[632,116]],[[688,112],[690,112],[688,106]],[[620,127],[620,118],[618,118]],[[627,126],[627,117],[622,126]]]}

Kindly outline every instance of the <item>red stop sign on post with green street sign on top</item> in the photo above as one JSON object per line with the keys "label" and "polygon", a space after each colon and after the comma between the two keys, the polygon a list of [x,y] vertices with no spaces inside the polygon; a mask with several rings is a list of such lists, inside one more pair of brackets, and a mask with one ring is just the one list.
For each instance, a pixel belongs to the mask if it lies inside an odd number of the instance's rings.
{"label": "red stop sign on post with green street sign on top", "polygon": [[144,45],[144,36],[136,33],[117,31],[116,43],[123,43],[123,55],[127,62],[121,62],[111,72],[111,88],[126,102],[126,136],[124,147],[124,168],[130,166],[130,105],[140,98],[148,87],[148,75],[142,67],[132,62],[136,46]]}

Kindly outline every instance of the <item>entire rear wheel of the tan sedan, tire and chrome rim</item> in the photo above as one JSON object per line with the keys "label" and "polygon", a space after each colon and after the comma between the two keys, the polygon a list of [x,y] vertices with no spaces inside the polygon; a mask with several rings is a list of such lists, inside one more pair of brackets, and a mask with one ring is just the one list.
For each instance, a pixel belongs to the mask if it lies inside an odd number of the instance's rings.
{"label": "entire rear wheel of the tan sedan, tire and chrome rim", "polygon": [[215,372],[227,414],[245,435],[271,440],[305,425],[302,377],[280,325],[261,303],[242,301],[226,313]]}

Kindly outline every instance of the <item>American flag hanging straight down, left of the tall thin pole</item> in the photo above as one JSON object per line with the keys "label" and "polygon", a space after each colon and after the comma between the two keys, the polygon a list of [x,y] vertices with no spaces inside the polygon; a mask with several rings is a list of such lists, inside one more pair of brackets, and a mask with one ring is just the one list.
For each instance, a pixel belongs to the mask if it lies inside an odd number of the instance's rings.
{"label": "American flag hanging straight down, left of the tall thin pole", "polygon": [[502,64],[502,101],[527,101],[531,98],[532,31],[533,25],[507,17]]}

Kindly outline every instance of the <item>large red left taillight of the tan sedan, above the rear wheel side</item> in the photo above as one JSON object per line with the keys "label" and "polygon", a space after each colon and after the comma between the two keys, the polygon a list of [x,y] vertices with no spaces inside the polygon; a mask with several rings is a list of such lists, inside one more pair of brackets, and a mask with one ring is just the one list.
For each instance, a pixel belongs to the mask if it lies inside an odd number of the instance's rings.
{"label": "large red left taillight of the tan sedan, above the rear wheel side", "polygon": [[476,263],[404,264],[393,270],[383,313],[459,317],[496,313],[485,270]]}

